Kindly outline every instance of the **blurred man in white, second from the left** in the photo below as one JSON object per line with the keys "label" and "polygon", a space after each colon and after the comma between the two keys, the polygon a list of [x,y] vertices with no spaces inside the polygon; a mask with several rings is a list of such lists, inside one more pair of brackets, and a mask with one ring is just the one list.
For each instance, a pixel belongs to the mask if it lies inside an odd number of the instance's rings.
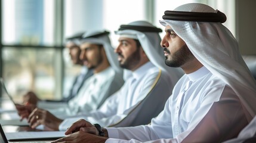
{"label": "blurred man in white, second from the left", "polygon": [[[122,69],[118,66],[117,56],[113,52],[108,35],[109,32],[106,31],[94,31],[88,32],[81,39],[80,58],[94,74],[85,81],[78,95],[68,102],[67,107],[48,110],[50,113],[35,108],[31,113],[36,112],[35,119],[38,123],[96,110],[107,97],[121,88]],[[31,110],[28,110],[27,106],[17,108],[21,118],[27,118],[30,114]]]}

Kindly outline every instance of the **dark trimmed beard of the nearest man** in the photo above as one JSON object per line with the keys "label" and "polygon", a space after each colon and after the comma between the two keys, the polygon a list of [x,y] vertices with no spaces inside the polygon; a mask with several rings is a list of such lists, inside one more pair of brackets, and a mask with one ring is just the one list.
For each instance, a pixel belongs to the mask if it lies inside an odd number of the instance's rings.
{"label": "dark trimmed beard of the nearest man", "polygon": [[167,48],[164,48],[164,51],[170,54],[165,57],[165,64],[169,67],[181,67],[183,64],[187,63],[187,61],[195,58],[187,45],[181,46],[181,48],[172,55]]}

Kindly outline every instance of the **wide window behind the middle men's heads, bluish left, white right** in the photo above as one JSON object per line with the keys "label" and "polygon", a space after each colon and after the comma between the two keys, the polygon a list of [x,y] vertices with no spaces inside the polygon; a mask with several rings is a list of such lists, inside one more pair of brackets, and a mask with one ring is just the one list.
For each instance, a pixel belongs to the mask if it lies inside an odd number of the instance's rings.
{"label": "wide window behind the middle men's heads, bluish left, white right", "polygon": [[65,37],[77,32],[95,29],[107,29],[113,46],[118,40],[115,30],[121,24],[135,20],[146,20],[145,7],[147,0],[66,0],[65,1]]}

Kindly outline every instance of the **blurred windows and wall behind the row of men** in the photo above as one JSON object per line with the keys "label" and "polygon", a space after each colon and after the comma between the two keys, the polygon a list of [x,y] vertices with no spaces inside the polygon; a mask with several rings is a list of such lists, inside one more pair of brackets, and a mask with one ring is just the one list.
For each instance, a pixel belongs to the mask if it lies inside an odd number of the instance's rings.
{"label": "blurred windows and wall behind the row of men", "polygon": [[[164,11],[189,2],[225,13],[224,25],[238,40],[241,53],[256,55],[255,0],[2,0],[0,75],[16,102],[27,91],[58,100],[81,68],[70,61],[64,38],[107,29],[116,46],[113,32],[121,24],[147,20],[164,30],[159,24]],[[4,95],[2,89],[0,93]]]}

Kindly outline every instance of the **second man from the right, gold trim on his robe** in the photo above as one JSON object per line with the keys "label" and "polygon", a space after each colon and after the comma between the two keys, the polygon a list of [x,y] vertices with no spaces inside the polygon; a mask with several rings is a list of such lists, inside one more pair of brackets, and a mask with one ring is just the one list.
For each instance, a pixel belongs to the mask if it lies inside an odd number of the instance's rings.
{"label": "second man from the right, gold trim on his robe", "polygon": [[[143,30],[140,31],[140,27],[143,27]],[[172,87],[182,74],[177,69],[166,69],[164,56],[159,50],[161,31],[146,21],[134,21],[121,26],[117,32],[120,38],[115,52],[118,54],[120,66],[125,69],[125,76],[129,75],[122,88],[107,98],[98,110],[43,124],[51,129],[66,130],[81,118],[100,123],[101,126],[149,123],[152,117],[163,110],[162,103],[167,100]],[[36,116],[37,111],[33,111],[29,116],[33,128],[39,125]]]}

